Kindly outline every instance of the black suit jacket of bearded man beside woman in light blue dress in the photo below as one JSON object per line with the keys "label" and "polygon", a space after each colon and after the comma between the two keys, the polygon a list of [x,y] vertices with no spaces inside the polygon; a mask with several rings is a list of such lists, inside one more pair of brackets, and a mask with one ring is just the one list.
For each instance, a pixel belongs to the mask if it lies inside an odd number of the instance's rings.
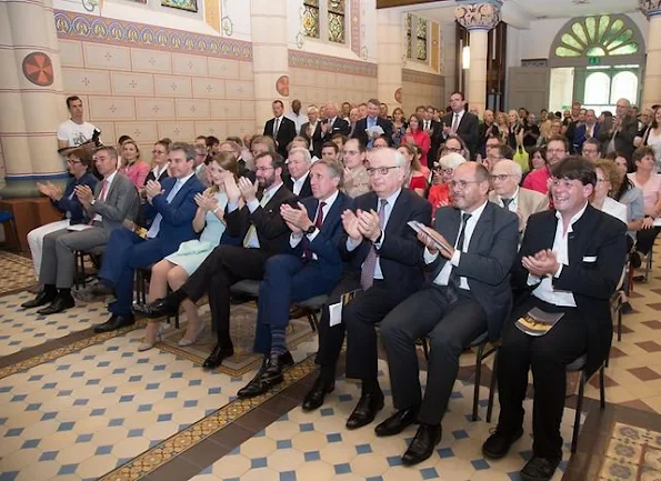
{"label": "black suit jacket of bearded man beside woman in light blue dress", "polygon": [[248,229],[253,224],[257,229],[260,249],[268,257],[288,252],[291,231],[280,216],[280,206],[289,203],[297,207],[297,199],[290,190],[280,186],[269,202],[264,207],[258,207],[254,212],[250,212],[248,206],[232,212],[227,212],[226,209],[226,232],[229,237],[243,242]]}

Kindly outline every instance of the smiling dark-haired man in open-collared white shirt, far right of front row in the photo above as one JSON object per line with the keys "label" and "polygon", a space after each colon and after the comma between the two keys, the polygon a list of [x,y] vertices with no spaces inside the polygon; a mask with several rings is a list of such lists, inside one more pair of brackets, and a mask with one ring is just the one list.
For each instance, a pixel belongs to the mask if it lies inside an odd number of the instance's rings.
{"label": "smiling dark-haired man in open-collared white shirt, far right of front row", "polygon": [[[512,270],[518,293],[503,329],[498,358],[500,417],[482,445],[487,458],[504,457],[522,435],[523,399],[532,367],[533,448],[523,480],[550,480],[562,459],[560,423],[567,364],[587,354],[590,377],[607,359],[613,335],[610,298],[627,257],[627,226],[590,206],[594,167],[570,157],[552,169],[555,211],[530,217]],[[543,335],[532,337],[515,322],[532,309],[560,314]]]}

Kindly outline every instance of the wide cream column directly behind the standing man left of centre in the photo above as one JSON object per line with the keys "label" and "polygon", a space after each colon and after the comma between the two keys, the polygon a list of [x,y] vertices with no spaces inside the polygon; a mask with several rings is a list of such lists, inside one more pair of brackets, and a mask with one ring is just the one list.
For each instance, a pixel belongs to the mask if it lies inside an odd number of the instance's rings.
{"label": "wide cream column directly behind the standing man left of centre", "polygon": [[286,1],[251,0],[252,71],[254,73],[256,129],[273,117],[271,103],[282,100],[289,110],[289,57]]}

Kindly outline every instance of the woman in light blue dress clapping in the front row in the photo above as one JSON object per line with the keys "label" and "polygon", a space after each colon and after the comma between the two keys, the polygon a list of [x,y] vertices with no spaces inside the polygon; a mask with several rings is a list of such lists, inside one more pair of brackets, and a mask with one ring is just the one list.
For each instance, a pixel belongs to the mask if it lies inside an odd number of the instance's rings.
{"label": "woman in light blue dress clapping in the front row", "polygon": [[[196,196],[198,212],[193,219],[193,229],[201,232],[200,239],[182,242],[179,250],[168,255],[151,268],[149,283],[149,299],[162,299],[168,293],[168,284],[176,291],[207,259],[220,243],[226,222],[224,208],[228,197],[224,191],[226,181],[237,180],[237,159],[231,152],[219,152],[207,167],[212,186]],[[198,308],[194,302],[186,300],[183,309],[188,319],[186,334],[179,340],[180,347],[191,345],[197,342],[204,329]],[[149,321],[144,332],[144,342],[138,347],[139,351],[147,351],[160,341],[160,321]]]}

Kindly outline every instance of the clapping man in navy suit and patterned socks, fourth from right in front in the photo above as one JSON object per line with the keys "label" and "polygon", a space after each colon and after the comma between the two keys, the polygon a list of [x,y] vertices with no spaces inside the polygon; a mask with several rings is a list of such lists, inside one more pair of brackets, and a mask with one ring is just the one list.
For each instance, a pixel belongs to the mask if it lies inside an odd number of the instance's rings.
{"label": "clapping man in navy suit and patterned socks, fourth from right in front", "polygon": [[343,168],[338,162],[320,160],[312,166],[312,193],[298,207],[283,204],[280,213],[291,230],[290,253],[267,261],[260,284],[256,352],[264,354],[262,369],[239,390],[239,398],[267,392],[282,382],[282,363],[287,350],[284,329],[289,305],[314,295],[328,294],[340,281],[342,259],[338,244],[343,234],[341,214],[353,201],[338,190]]}

